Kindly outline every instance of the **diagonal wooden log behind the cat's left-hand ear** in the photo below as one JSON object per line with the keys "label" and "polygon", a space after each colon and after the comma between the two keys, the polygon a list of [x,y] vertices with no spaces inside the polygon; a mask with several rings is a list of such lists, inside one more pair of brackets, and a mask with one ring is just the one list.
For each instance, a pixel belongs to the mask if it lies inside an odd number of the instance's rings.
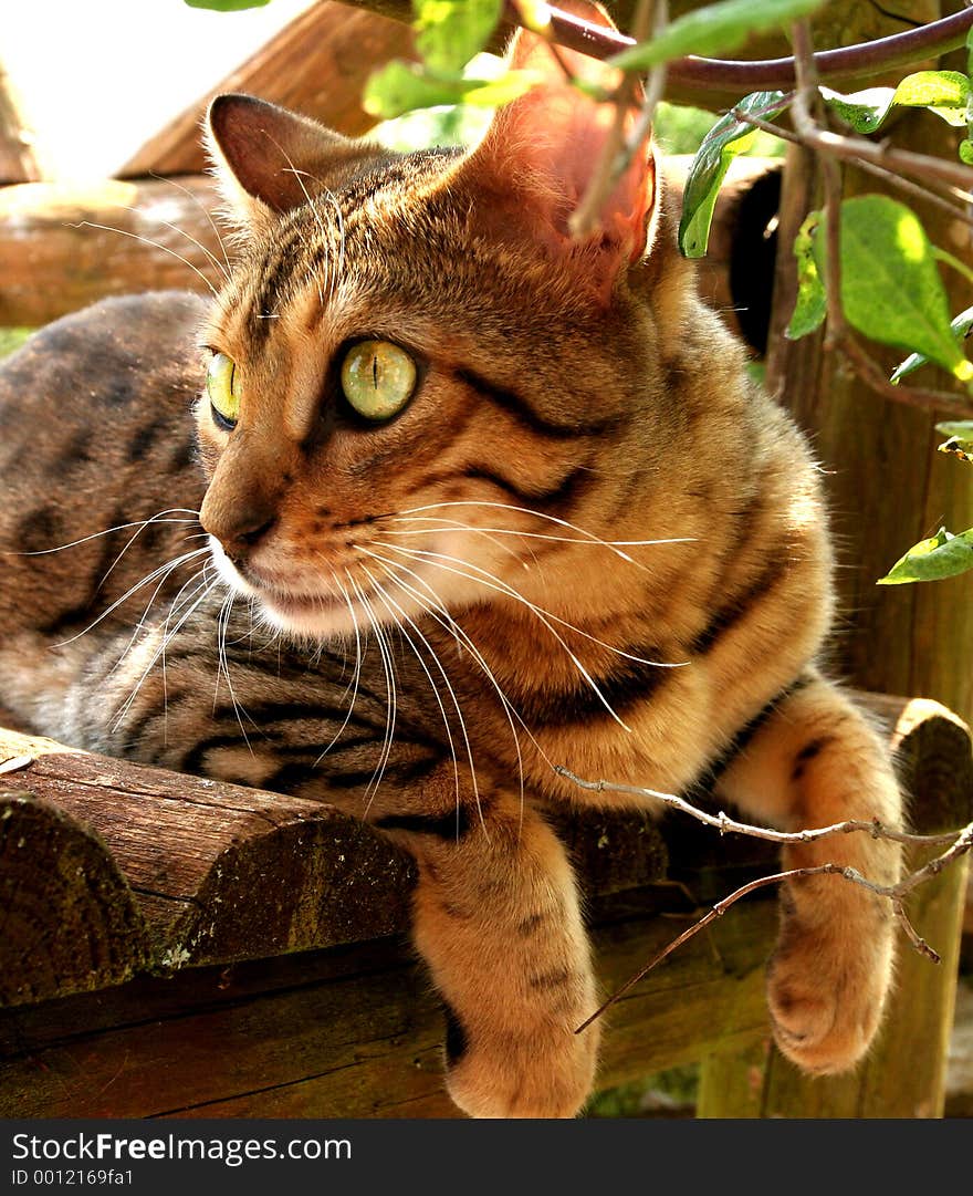
{"label": "diagonal wooden log behind the cat's left-hand ear", "polygon": [[155,134],[118,177],[202,171],[200,123],[209,100],[222,92],[249,92],[359,136],[375,124],[361,106],[369,74],[391,59],[414,56],[408,25],[363,10],[351,12],[341,4],[317,4]]}

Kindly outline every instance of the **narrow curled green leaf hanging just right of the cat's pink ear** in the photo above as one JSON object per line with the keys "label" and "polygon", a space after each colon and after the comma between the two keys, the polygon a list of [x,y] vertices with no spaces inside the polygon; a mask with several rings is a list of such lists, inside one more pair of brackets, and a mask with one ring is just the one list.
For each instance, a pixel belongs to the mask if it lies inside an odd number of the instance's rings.
{"label": "narrow curled green leaf hanging just right of the cat's pink ear", "polygon": [[[747,115],[770,117],[788,106],[782,91],[755,91],[736,105]],[[703,257],[709,244],[712,210],[720,185],[733,159],[753,141],[757,130],[733,112],[721,117],[703,138],[683,189],[679,249],[686,257]]]}

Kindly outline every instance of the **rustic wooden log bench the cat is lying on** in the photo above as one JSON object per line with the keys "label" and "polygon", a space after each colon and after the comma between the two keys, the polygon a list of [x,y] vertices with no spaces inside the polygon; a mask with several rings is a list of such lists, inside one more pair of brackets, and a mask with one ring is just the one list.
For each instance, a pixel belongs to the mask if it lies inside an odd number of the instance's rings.
{"label": "rustic wooden log bench the cat is lying on", "polygon": [[[966,726],[932,702],[869,704],[914,826],[967,823]],[[328,806],[13,731],[0,768],[0,1115],[458,1116],[439,1002],[405,933],[412,868],[383,837]],[[766,843],[675,814],[588,812],[558,829],[606,993],[775,871]],[[881,1041],[851,1076],[808,1080],[769,1046],[763,890],[606,1014],[600,1087],[702,1062],[702,1117],[941,1116],[963,881],[953,865],[916,892],[910,916],[943,963],[902,942]]]}

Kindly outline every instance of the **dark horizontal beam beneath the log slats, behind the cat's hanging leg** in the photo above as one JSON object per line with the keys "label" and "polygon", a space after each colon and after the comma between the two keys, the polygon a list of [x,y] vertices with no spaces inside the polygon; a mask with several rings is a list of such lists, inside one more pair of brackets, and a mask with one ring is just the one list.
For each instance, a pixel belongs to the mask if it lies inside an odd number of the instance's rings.
{"label": "dark horizontal beam beneath the log slats, behind the cat's hanging leg", "polygon": [[[595,929],[606,988],[685,925],[685,915],[660,919],[648,904],[648,916],[629,905],[623,921]],[[612,1011],[602,1086],[761,1032],[761,964],[776,915],[770,902],[738,913],[692,940]],[[142,981],[137,1024],[123,1020],[126,1005],[116,995],[120,1024],[94,1033],[81,1029],[79,997],[4,1014],[0,1026],[11,1024],[16,1054],[0,1064],[0,1115],[455,1115],[441,1088],[439,1002],[400,941],[292,959],[277,975],[281,987],[270,990],[247,993],[234,971],[225,980],[216,969],[183,974],[175,982],[184,989],[182,1008],[164,1015],[153,1001],[166,1000],[166,982]],[[67,1008],[51,1037],[59,1006]]]}

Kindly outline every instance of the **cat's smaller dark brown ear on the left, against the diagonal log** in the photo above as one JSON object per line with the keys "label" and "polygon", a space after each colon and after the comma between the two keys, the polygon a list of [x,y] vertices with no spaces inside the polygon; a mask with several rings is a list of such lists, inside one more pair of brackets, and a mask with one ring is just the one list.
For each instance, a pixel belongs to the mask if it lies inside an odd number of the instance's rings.
{"label": "cat's smaller dark brown ear on the left, against the diagonal log", "polygon": [[377,152],[253,96],[218,96],[204,133],[224,197],[251,228],[307,203]]}

